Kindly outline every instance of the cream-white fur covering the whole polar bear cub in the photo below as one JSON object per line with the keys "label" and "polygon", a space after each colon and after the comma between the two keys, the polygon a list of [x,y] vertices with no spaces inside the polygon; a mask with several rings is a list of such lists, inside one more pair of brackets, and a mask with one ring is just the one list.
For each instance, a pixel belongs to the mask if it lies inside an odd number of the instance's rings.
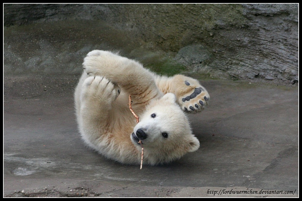
{"label": "cream-white fur covering the whole polar bear cub", "polygon": [[[74,97],[79,131],[88,146],[109,159],[140,164],[141,147],[131,133],[142,129],[148,136],[142,140],[144,164],[168,163],[199,148],[182,111],[201,111],[209,98],[197,80],[160,77],[134,60],[101,50],[88,53],[83,69]],[[183,101],[198,87],[201,93]],[[127,105],[129,94],[138,124]]]}

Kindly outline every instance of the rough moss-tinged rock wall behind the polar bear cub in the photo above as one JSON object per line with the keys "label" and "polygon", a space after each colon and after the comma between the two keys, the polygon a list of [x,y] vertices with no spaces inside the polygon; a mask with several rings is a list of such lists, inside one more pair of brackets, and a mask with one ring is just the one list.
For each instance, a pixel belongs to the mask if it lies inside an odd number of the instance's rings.
{"label": "rough moss-tinged rock wall behind the polar bear cub", "polygon": [[6,27],[62,20],[102,21],[193,72],[298,83],[298,4],[4,4]]}

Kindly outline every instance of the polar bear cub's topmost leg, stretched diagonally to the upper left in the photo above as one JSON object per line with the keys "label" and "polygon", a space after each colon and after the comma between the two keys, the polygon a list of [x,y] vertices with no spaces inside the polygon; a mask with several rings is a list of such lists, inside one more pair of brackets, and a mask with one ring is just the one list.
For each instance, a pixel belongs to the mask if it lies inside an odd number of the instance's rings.
{"label": "polar bear cub's topmost leg, stretched diagonally to the upper left", "polygon": [[156,87],[154,74],[132,59],[120,55],[93,50],[87,54],[83,62],[84,73],[106,77],[118,84],[122,93],[130,94],[133,108],[144,108],[150,100],[160,98],[162,93]]}

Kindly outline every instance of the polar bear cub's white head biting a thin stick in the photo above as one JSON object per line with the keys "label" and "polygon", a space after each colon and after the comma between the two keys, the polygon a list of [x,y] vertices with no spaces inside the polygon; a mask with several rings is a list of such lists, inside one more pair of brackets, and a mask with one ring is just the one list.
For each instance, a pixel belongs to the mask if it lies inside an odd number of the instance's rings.
{"label": "polar bear cub's white head biting a thin stick", "polygon": [[171,162],[199,148],[199,141],[192,134],[188,118],[173,93],[153,100],[146,107],[131,140],[138,150],[141,150],[138,141],[142,141],[144,160],[151,165]]}

